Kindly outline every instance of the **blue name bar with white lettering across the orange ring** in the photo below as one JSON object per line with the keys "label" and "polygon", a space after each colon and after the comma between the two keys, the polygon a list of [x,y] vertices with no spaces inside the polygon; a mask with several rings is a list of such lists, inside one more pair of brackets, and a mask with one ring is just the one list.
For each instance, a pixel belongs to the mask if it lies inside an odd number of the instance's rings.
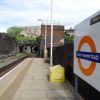
{"label": "blue name bar with white lettering across the orange ring", "polygon": [[77,51],[76,57],[81,58],[81,59],[85,59],[88,61],[100,63],[100,53]]}

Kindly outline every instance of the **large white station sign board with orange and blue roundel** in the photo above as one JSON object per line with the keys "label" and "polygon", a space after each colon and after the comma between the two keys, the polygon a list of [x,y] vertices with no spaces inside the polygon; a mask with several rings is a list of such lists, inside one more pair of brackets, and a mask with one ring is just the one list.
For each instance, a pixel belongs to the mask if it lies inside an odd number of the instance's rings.
{"label": "large white station sign board with orange and blue roundel", "polygon": [[100,92],[100,11],[75,27],[74,73]]}

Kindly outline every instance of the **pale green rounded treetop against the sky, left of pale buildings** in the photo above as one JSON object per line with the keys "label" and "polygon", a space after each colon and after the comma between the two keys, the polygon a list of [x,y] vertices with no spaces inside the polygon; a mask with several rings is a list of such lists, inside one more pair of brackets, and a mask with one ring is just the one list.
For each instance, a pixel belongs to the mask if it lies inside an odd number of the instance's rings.
{"label": "pale green rounded treetop against the sky, left of pale buildings", "polygon": [[16,36],[19,36],[20,35],[20,32],[22,31],[23,29],[20,28],[20,27],[11,27],[7,30],[7,36],[8,37],[11,37],[11,38],[15,38]]}

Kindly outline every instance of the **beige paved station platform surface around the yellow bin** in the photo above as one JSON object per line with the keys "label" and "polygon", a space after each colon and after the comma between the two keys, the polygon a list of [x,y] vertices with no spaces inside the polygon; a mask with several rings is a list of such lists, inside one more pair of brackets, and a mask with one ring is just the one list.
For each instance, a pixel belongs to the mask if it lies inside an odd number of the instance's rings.
{"label": "beige paved station platform surface around the yellow bin", "polygon": [[42,58],[30,58],[0,100],[74,100],[66,83],[48,81],[49,64]]}

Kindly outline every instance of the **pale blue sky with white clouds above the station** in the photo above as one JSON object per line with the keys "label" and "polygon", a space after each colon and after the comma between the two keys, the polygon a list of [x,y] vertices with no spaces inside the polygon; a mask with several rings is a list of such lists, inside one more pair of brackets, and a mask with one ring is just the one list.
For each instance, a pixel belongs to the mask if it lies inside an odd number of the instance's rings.
{"label": "pale blue sky with white clouds above the station", "polygon": [[[74,28],[100,10],[100,0],[52,0],[53,23]],[[39,26],[51,21],[51,0],[0,0],[0,32],[13,26]]]}

